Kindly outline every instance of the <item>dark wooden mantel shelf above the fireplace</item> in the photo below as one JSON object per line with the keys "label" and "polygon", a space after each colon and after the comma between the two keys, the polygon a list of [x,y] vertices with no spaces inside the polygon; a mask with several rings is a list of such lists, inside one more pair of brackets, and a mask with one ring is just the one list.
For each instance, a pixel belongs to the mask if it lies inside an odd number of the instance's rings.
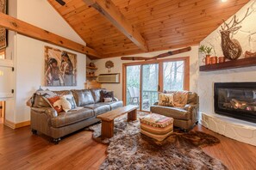
{"label": "dark wooden mantel shelf above the fireplace", "polygon": [[242,58],[233,61],[228,61],[222,64],[209,64],[200,66],[200,71],[215,71],[215,70],[227,70],[241,67],[256,66],[256,58]]}

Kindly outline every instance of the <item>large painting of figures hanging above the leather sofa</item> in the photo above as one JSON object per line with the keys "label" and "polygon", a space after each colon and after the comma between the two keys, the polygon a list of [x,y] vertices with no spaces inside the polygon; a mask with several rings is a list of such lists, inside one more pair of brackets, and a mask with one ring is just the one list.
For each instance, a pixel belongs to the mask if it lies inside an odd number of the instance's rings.
{"label": "large painting of figures hanging above the leather sofa", "polygon": [[45,86],[77,86],[77,55],[45,46]]}

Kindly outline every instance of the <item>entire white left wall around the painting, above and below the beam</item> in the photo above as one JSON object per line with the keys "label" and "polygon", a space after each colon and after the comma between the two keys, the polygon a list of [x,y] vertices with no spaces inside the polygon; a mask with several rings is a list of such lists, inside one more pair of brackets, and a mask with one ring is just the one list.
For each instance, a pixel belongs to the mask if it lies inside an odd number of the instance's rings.
{"label": "entire white left wall around the painting, above and below the beam", "polygon": [[[85,45],[72,27],[47,3],[47,0],[14,0],[10,1],[9,5],[11,5],[9,9],[15,10],[13,14],[18,19]],[[14,34],[11,37],[14,42],[9,41],[9,46],[13,47],[9,48],[7,55],[12,54],[16,61],[16,97],[12,102],[7,103],[9,110],[6,111],[6,119],[14,123],[20,123],[30,119],[30,109],[26,106],[26,101],[43,84],[44,46],[52,46],[67,52],[72,51],[20,34],[16,36]],[[78,86],[72,88],[84,88],[86,56],[78,52],[72,53],[78,55]],[[13,108],[13,111],[11,108]]]}

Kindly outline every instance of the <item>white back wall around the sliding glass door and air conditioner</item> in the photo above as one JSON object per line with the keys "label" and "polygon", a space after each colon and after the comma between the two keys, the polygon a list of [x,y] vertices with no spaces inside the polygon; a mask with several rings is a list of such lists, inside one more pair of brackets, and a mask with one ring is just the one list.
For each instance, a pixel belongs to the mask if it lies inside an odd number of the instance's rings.
{"label": "white back wall around the sliding glass door and air conditioner", "polygon": [[[175,50],[175,49],[173,49]],[[169,50],[171,51],[171,50]],[[141,57],[154,57],[164,52],[169,51],[160,51],[160,52],[149,52],[140,54]],[[138,56],[138,55],[131,55]],[[198,76],[198,46],[192,46],[192,50],[190,52],[180,53],[178,55],[174,55],[168,58],[181,58],[181,57],[190,57],[190,90],[197,92],[197,76]],[[106,61],[111,60],[114,63],[114,68],[111,69],[111,73],[121,73],[121,83],[118,84],[109,84],[103,83],[102,87],[107,88],[108,90],[112,90],[115,92],[115,96],[122,100],[122,64],[131,63],[133,61],[123,61],[121,58],[106,58],[95,61],[97,68],[96,75],[98,74],[106,74],[108,73],[108,69],[105,68]],[[134,61],[136,62],[136,61]],[[137,61],[138,62],[138,61]]]}

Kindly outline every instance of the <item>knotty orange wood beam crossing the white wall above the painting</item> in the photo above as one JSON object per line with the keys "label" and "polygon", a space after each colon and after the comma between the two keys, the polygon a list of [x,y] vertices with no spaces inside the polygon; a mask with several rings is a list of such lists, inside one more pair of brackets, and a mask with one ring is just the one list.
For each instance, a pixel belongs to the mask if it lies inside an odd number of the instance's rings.
{"label": "knotty orange wood beam crossing the white wall above the painting", "polygon": [[35,27],[25,21],[18,20],[10,15],[0,13],[0,26],[34,39],[39,39],[41,41],[56,46],[65,47],[75,52],[80,52],[100,58],[100,55],[88,46],[83,46],[70,39],[61,37],[55,33],[50,33],[47,30],[41,29],[40,27]]}

